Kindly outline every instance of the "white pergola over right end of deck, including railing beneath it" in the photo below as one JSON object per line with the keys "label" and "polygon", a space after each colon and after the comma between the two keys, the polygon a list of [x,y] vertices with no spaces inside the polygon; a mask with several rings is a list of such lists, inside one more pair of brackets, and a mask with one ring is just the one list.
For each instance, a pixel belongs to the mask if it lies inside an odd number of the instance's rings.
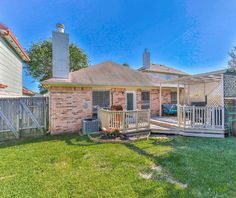
{"label": "white pergola over right end of deck, including railing beneath it", "polygon": [[[167,81],[177,87],[177,121],[181,128],[224,131],[224,74],[220,70]],[[161,89],[164,84],[160,85]],[[160,99],[161,100],[161,99]],[[160,102],[160,116],[161,116]]]}

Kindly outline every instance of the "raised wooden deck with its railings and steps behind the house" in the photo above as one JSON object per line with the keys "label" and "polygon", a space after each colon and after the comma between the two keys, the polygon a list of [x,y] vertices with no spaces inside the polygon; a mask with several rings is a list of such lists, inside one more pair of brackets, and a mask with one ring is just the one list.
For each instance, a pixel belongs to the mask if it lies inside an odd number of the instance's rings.
{"label": "raised wooden deck with its railings and steps behind the house", "polygon": [[[150,110],[111,111],[99,109],[103,131],[118,129],[123,134],[169,134],[195,137],[224,138],[221,107],[183,108],[178,117],[152,117]],[[182,116],[182,117],[181,117]]]}

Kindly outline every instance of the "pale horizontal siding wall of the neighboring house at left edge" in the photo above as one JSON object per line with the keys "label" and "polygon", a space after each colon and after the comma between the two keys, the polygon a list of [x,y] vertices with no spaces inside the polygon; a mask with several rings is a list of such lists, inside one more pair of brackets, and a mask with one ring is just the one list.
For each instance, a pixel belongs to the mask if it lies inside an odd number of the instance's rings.
{"label": "pale horizontal siding wall of the neighboring house at left edge", "polygon": [[0,84],[8,86],[0,89],[0,97],[22,96],[22,67],[21,59],[0,38]]}

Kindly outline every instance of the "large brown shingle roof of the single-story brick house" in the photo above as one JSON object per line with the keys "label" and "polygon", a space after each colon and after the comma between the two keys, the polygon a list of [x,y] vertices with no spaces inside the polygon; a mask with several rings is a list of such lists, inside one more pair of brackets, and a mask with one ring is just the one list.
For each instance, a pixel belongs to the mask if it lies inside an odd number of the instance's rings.
{"label": "large brown shingle roof of the single-story brick house", "polygon": [[43,84],[153,87],[159,85],[160,82],[164,82],[164,80],[107,61],[71,72],[69,79],[51,78],[44,81]]}

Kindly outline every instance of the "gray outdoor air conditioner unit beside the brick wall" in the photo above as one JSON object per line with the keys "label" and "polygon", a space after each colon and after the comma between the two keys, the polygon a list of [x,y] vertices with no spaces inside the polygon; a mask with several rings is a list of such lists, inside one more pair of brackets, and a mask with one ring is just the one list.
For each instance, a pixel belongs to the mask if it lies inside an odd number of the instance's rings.
{"label": "gray outdoor air conditioner unit beside the brick wall", "polygon": [[82,121],[82,132],[83,134],[89,134],[99,131],[98,119],[87,118]]}

